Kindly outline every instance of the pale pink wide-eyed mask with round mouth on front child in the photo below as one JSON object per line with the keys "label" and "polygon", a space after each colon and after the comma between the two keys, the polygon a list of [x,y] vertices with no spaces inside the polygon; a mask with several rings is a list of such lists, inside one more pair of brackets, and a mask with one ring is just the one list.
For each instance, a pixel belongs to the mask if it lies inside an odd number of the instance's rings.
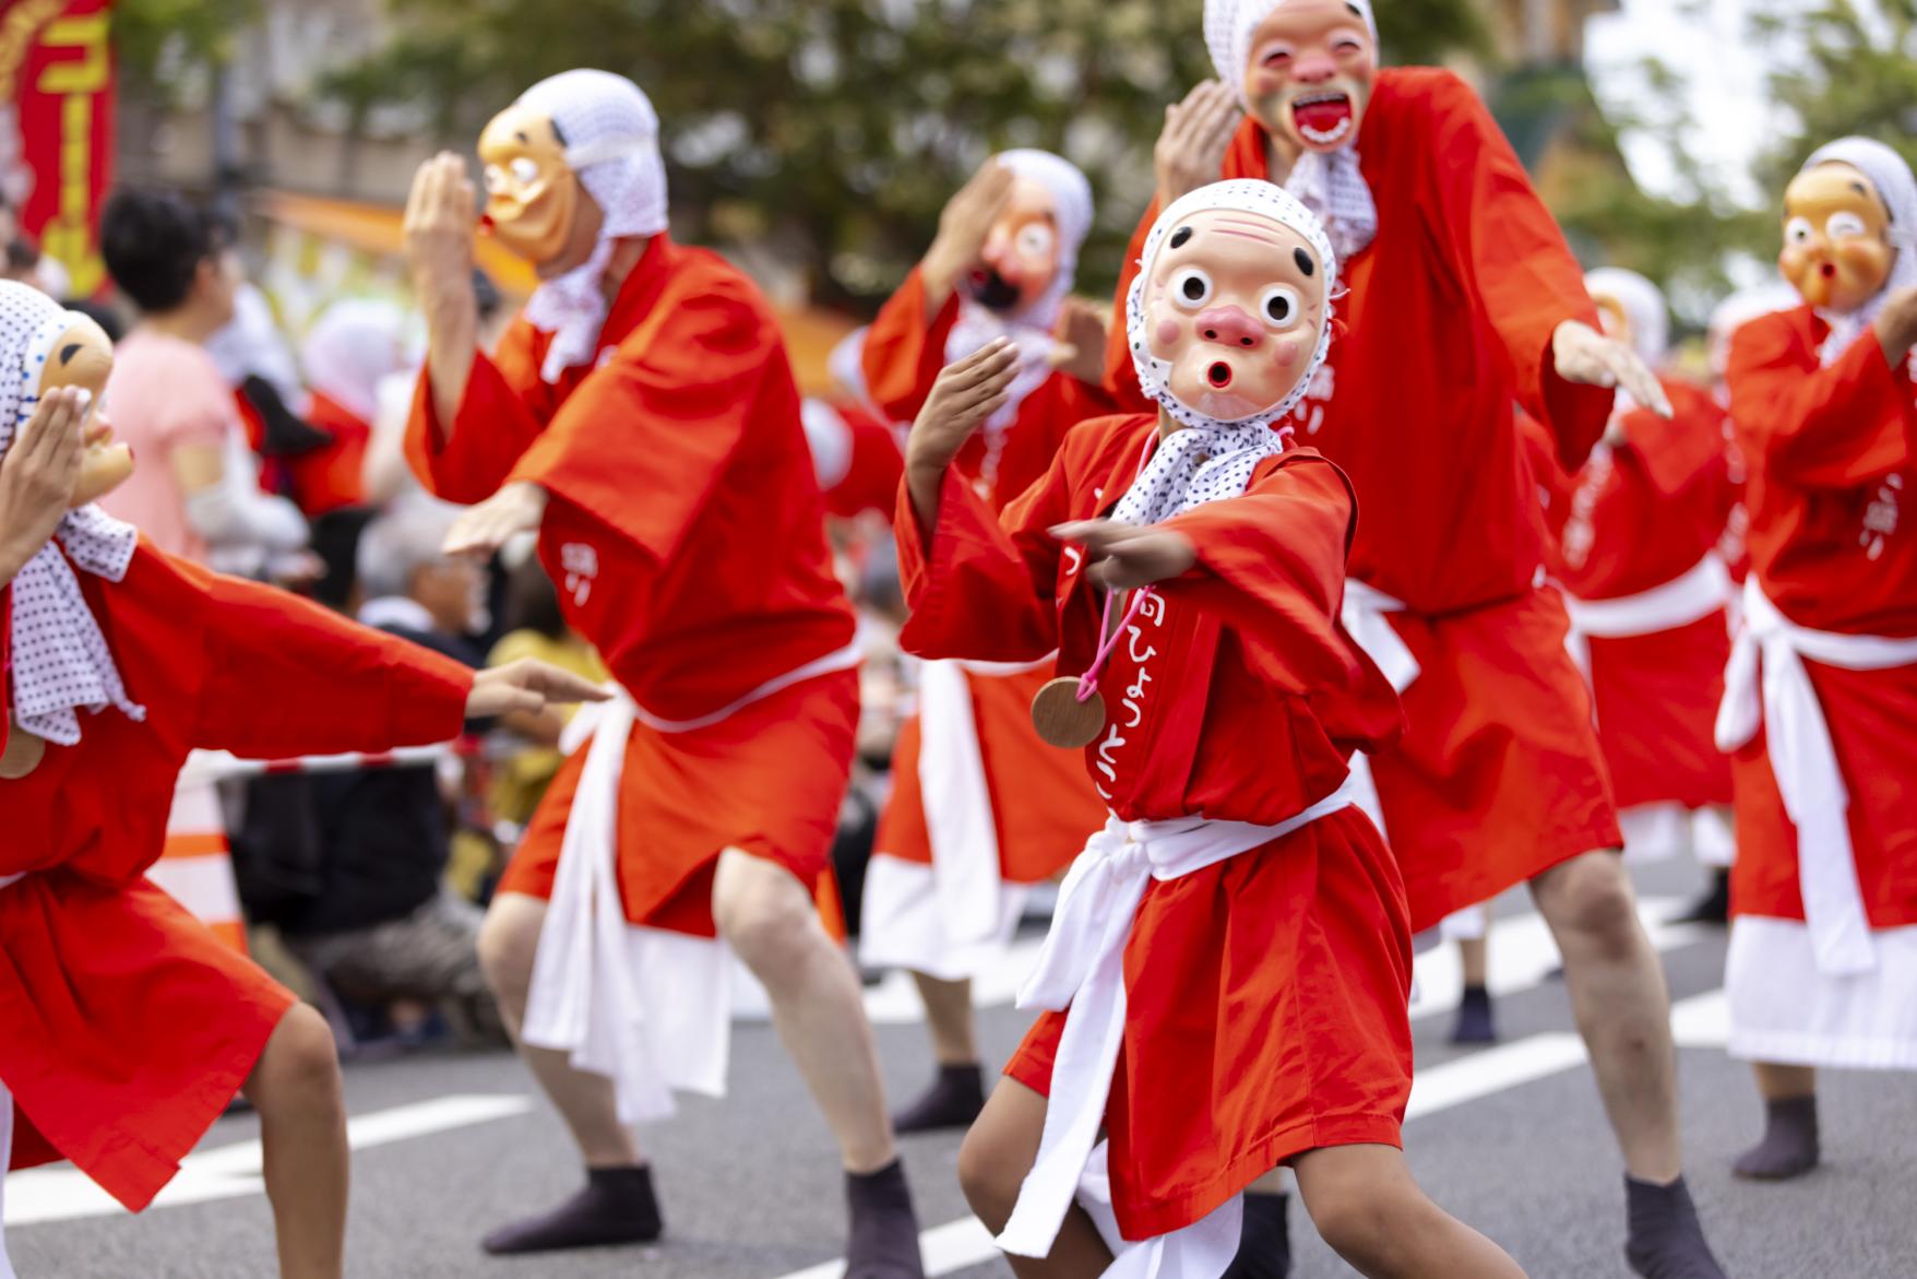
{"label": "pale pink wide-eyed mask with round mouth on front child", "polygon": [[1164,387],[1169,408],[1213,422],[1288,408],[1323,359],[1325,257],[1296,226],[1256,209],[1179,215],[1141,276],[1133,345],[1148,364],[1146,385]]}

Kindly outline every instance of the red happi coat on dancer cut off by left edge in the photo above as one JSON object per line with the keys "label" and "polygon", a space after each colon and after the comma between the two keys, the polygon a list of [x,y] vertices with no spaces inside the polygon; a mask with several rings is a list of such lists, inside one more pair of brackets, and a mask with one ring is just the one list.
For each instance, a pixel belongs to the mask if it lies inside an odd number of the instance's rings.
{"label": "red happi coat on dancer cut off by left edge", "polygon": [[146,878],[188,752],[443,742],[473,677],[146,545],[123,581],[79,579],[146,719],[82,713],[79,746],[48,744],[40,767],[0,780],[0,876],[25,876],[0,888],[0,1080],[19,1120],[13,1168],[69,1158],[138,1210],[293,1003]]}

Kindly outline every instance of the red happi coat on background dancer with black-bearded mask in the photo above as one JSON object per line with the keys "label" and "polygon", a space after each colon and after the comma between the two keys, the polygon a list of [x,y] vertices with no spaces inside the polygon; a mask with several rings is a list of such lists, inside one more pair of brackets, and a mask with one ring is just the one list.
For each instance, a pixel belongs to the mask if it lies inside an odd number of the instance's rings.
{"label": "red happi coat on background dancer with black-bearded mask", "polygon": [[[865,339],[865,378],[872,401],[899,422],[911,422],[945,368],[945,347],[958,322],[958,295],[926,320],[926,290],[914,267]],[[997,443],[980,431],[953,462],[987,508],[1003,510],[1051,468],[1074,426],[1110,414],[1104,387],[1054,372],[1018,405],[1016,420]],[[897,487],[897,485],[895,485]],[[1031,729],[1031,698],[1043,671],[1022,675],[970,673],[980,759],[991,794],[999,871],[1014,884],[1047,880],[1072,863],[1085,836],[1104,825],[1104,805],[1072,759],[1047,748]],[[893,792],[880,815],[876,849],[907,861],[932,861],[932,836],[918,784],[918,717],[899,729],[893,752]],[[934,744],[937,750],[937,744]]]}

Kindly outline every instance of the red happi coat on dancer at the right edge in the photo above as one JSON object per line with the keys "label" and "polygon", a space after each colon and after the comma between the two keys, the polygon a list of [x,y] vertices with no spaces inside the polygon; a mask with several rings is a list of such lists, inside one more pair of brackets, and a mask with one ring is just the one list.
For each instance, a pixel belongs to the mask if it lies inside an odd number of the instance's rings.
{"label": "red happi coat on dancer at the right edge", "polygon": [[[1752,320],[1731,347],[1731,420],[1750,468],[1752,573],[1815,631],[1917,637],[1917,389],[1865,332],[1823,368],[1808,307]],[[1850,792],[1850,842],[1873,928],[1917,924],[1917,665],[1804,662]],[[1731,909],[1802,920],[1796,830],[1764,733],[1733,757]]]}

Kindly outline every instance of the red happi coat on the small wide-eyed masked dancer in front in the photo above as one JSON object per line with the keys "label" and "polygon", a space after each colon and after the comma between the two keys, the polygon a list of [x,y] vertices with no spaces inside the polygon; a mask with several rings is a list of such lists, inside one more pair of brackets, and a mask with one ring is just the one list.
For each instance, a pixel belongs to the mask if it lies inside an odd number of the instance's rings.
{"label": "red happi coat on the small wide-eyed masked dancer in front", "polygon": [[[1148,414],[1081,426],[997,518],[955,472],[932,529],[901,493],[901,642],[991,662],[1058,648],[1060,673],[1087,669],[1102,594],[1047,529],[1108,516],[1156,430]],[[1336,623],[1351,523],[1344,476],[1305,449],[1169,522],[1198,566],[1116,644],[1100,679],[1112,723],[1083,752],[1120,819],[1275,825],[1332,794],[1353,748],[1396,736],[1390,685]],[[1150,884],[1106,1108],[1125,1237],[1190,1225],[1302,1151],[1397,1145],[1409,980],[1397,867],[1355,807]],[[1041,1016],[1006,1072],[1047,1091],[1062,1028]]]}

